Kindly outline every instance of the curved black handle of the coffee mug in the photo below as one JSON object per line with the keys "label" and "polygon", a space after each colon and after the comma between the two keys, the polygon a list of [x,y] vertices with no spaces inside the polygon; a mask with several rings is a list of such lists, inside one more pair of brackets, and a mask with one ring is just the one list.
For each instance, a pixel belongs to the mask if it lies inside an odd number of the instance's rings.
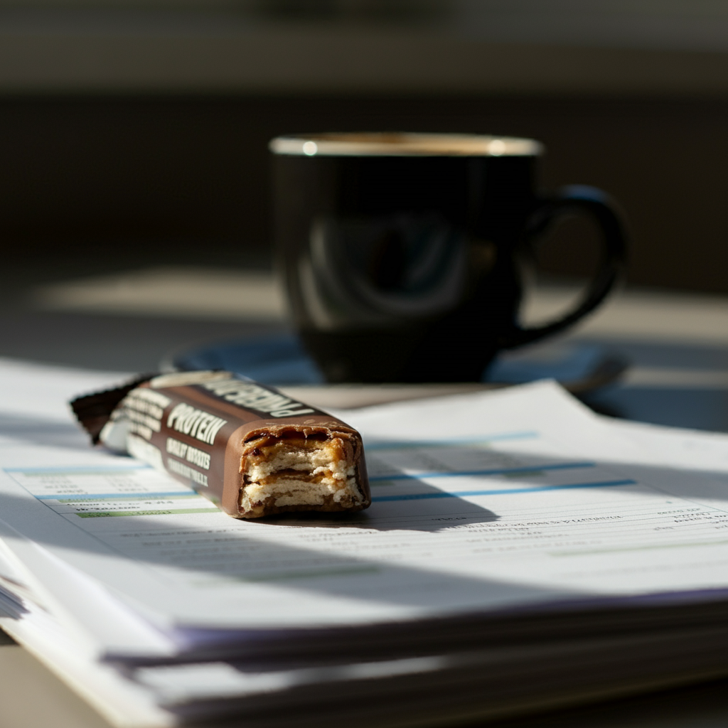
{"label": "curved black handle of the coffee mug", "polygon": [[577,307],[557,321],[523,328],[517,323],[505,336],[504,349],[520,347],[563,331],[604,301],[617,280],[622,277],[627,258],[627,236],[622,221],[601,189],[584,185],[563,187],[554,197],[545,199],[526,223],[525,239],[542,235],[558,218],[574,213],[591,218],[601,232],[602,256],[599,268],[590,281]]}

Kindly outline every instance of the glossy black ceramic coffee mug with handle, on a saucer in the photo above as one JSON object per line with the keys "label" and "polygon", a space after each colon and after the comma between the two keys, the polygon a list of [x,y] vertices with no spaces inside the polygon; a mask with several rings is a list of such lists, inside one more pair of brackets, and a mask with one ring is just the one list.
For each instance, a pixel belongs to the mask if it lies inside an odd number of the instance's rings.
{"label": "glossy black ceramic coffee mug with handle, on a saucer", "polygon": [[[331,133],[270,149],[277,264],[328,381],[479,381],[499,350],[593,310],[622,270],[625,235],[604,193],[537,194],[536,141]],[[524,328],[519,256],[573,213],[601,231],[601,263],[574,310]]]}

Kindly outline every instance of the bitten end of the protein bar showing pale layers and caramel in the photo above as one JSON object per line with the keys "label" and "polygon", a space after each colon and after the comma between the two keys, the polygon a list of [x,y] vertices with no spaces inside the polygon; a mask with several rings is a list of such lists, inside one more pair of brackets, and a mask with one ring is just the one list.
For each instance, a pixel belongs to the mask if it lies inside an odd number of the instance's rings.
{"label": "bitten end of the protein bar showing pale layers and caramel", "polygon": [[242,457],[240,515],[260,518],[288,510],[358,510],[354,448],[348,440],[263,437]]}

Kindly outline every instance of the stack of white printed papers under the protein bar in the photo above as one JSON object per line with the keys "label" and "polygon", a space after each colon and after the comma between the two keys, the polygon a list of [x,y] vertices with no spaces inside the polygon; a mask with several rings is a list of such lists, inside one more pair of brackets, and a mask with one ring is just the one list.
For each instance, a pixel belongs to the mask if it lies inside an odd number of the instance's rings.
{"label": "stack of white printed papers under the protein bar", "polygon": [[728,436],[550,382],[337,413],[371,509],[236,521],[0,363],[0,625],[109,720],[404,726],[728,673]]}

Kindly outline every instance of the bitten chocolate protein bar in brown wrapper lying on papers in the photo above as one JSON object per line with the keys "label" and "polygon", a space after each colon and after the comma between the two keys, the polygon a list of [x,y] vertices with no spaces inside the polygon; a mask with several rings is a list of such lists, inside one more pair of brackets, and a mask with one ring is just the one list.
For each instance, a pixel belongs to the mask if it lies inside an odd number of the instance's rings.
{"label": "bitten chocolate protein bar in brown wrapper lying on papers", "polygon": [[234,518],[371,503],[356,430],[233,373],[156,376],[71,405],[94,441],[166,470]]}

